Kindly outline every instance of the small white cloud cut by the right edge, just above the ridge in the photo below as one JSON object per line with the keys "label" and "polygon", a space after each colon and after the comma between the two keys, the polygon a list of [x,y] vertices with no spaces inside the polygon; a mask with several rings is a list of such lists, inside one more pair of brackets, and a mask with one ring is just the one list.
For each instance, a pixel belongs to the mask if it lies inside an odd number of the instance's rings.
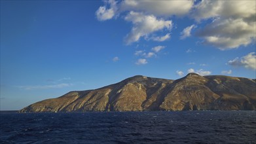
{"label": "small white cloud cut by the right edge, just above the ridge", "polygon": [[235,58],[228,62],[229,65],[236,67],[246,67],[247,69],[256,69],[256,55],[255,52],[251,52],[242,58]]}

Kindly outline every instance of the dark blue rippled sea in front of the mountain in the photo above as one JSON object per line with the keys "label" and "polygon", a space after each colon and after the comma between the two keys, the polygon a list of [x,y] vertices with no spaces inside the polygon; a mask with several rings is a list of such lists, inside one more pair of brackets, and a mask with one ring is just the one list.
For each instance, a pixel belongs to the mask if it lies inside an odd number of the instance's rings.
{"label": "dark blue rippled sea in front of the mountain", "polygon": [[256,143],[256,111],[0,116],[0,143]]}

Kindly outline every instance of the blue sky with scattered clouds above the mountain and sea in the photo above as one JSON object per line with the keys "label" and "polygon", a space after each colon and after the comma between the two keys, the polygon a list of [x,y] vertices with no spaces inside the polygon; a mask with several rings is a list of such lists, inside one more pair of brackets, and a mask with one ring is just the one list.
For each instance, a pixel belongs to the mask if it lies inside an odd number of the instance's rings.
{"label": "blue sky with scattered clouds above the mountain and sea", "polygon": [[253,1],[1,1],[0,110],[134,75],[255,79]]}

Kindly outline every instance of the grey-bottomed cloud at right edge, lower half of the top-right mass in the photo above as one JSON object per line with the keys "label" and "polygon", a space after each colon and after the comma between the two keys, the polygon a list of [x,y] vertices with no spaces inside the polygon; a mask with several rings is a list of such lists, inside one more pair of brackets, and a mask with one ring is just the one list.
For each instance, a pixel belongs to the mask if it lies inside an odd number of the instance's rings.
{"label": "grey-bottomed cloud at right edge, lower half of the top-right mass", "polygon": [[197,35],[205,39],[204,43],[221,50],[249,45],[255,39],[255,22],[247,23],[242,18],[215,20]]}

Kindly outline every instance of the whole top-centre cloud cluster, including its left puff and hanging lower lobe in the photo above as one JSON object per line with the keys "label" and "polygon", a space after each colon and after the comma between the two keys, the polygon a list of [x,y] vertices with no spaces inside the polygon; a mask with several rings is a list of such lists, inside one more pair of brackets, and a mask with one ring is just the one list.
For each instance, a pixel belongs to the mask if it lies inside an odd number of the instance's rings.
{"label": "whole top-centre cloud cluster, including its left puff and hanging lower lobe", "polygon": [[[194,1],[105,1],[96,11],[98,20],[110,20],[124,15],[124,20],[132,22],[132,29],[125,37],[127,45],[139,41],[141,37],[152,41],[170,39],[172,20],[170,16],[185,16],[192,9]],[[120,16],[122,17],[122,16]],[[123,17],[122,17],[123,18]],[[160,35],[156,35],[160,31]]]}

